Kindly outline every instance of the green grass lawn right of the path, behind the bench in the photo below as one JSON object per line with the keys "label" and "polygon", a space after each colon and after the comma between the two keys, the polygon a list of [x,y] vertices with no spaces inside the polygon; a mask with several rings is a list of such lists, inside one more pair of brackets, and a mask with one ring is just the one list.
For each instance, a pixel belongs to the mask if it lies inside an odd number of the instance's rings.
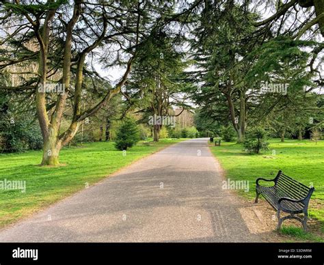
{"label": "green grass lawn right of the path, behind the bench", "polygon": [[[249,192],[241,195],[255,197],[255,182],[258,177],[272,179],[279,169],[295,180],[310,186],[315,191],[310,200],[310,217],[321,222],[324,232],[324,141],[315,144],[310,140],[291,140],[284,143],[280,139],[269,140],[269,151],[262,154],[243,152],[243,145],[222,142],[221,146],[211,146],[221,167],[230,180],[249,180]],[[275,152],[273,152],[275,150]]]}

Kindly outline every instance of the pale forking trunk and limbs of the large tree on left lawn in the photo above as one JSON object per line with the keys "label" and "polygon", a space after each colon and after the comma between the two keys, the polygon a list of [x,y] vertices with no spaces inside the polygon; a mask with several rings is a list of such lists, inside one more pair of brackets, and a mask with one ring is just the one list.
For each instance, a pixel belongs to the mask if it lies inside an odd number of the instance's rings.
{"label": "pale forking trunk and limbs of the large tree on left lawn", "polygon": [[[50,0],[53,1],[53,0]],[[66,40],[64,44],[64,56],[63,56],[63,66],[62,66],[62,84],[65,86],[65,91],[70,90],[70,79],[71,79],[71,59],[72,59],[72,38],[73,38],[73,28],[75,27],[75,24],[79,20],[79,16],[81,16],[81,12],[83,12],[82,9],[82,3],[83,0],[75,0],[75,6],[73,10],[73,14],[71,19],[66,25]],[[55,12],[53,12],[54,14]],[[50,19],[53,18],[53,14],[49,14],[49,16],[46,18],[44,25],[47,25]],[[138,13],[138,23],[137,23],[137,29],[139,29],[139,17],[140,14]],[[87,46],[81,51],[77,56],[77,71],[76,71],[76,78],[75,78],[75,91],[74,91],[74,99],[73,99],[73,115],[72,115],[72,122],[70,123],[70,126],[68,130],[66,130],[64,133],[59,135],[60,126],[62,122],[62,115],[64,113],[64,107],[66,105],[66,98],[67,93],[60,94],[57,98],[57,102],[55,105],[55,110],[53,111],[51,118],[49,119],[47,113],[46,113],[46,100],[45,95],[42,93],[36,94],[37,100],[37,109],[38,109],[38,120],[40,120],[40,126],[42,128],[42,135],[44,139],[44,154],[43,154],[43,160],[42,165],[57,165],[59,163],[59,150],[62,148],[62,146],[68,144],[73,137],[75,137],[75,134],[77,133],[77,130],[79,128],[79,125],[85,120],[85,118],[90,117],[91,115],[94,115],[106,102],[109,102],[111,98],[120,92],[120,89],[122,85],[126,82],[127,76],[129,75],[129,72],[131,71],[131,65],[134,57],[131,57],[127,63],[126,70],[124,72],[124,75],[120,79],[120,81],[117,83],[115,88],[109,90],[105,97],[100,100],[94,107],[87,109],[87,111],[83,111],[81,113],[81,90],[82,90],[82,83],[83,83],[83,66],[85,63],[85,57],[88,53],[90,53],[94,48],[96,48],[100,43],[104,40],[105,34],[107,32],[107,16],[106,14],[103,14],[103,31],[96,38],[96,40],[90,45]],[[41,49],[41,57],[40,57],[40,76],[42,76],[42,79],[40,80],[40,83],[46,82],[46,59],[47,59],[47,44],[49,43],[49,28],[44,27],[44,34],[43,34],[43,40],[44,44],[42,44],[42,40],[40,40],[40,37],[38,36],[38,40],[41,46],[44,46],[44,48]],[[46,34],[45,34],[46,33]],[[137,41],[136,44],[138,44],[138,37],[139,32],[137,31]],[[44,38],[46,36],[46,38]],[[44,116],[44,117],[42,117]]]}

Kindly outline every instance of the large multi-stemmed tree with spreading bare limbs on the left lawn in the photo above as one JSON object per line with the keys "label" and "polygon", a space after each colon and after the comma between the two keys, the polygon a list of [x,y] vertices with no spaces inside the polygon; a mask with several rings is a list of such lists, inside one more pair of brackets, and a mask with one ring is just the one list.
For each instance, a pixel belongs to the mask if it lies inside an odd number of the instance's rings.
{"label": "large multi-stemmed tree with spreading bare limbs on the left lawn", "polygon": [[[0,70],[30,61],[36,63],[38,70],[29,72],[29,78],[14,87],[0,88],[35,94],[44,141],[41,165],[57,165],[59,150],[71,141],[83,121],[120,92],[141,42],[150,36],[155,24],[163,21],[161,16],[156,18],[152,13],[162,14],[163,8],[159,3],[144,5],[141,1],[135,5],[129,1],[83,0],[24,3],[17,0],[4,4],[1,23],[7,28],[14,23],[15,27],[13,33],[3,31],[5,36],[0,43],[10,48],[3,53]],[[33,42],[34,50],[27,48],[29,42]],[[96,60],[98,55],[103,66],[121,64],[126,69],[120,81],[107,89],[100,101],[82,110],[84,76],[100,77],[93,65],[92,70],[87,66],[87,61]],[[59,79],[51,80],[57,72]],[[48,81],[59,83],[64,93],[46,93]],[[62,115],[68,99],[72,102],[73,115],[70,126],[62,132]]]}

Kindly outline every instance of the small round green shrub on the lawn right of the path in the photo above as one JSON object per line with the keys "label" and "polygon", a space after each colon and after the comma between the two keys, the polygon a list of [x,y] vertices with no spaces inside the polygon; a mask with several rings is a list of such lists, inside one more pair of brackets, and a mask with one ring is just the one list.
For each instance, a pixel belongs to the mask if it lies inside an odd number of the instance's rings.
{"label": "small round green shrub on the lawn right of the path", "polygon": [[244,148],[247,152],[260,154],[260,150],[268,150],[267,133],[263,128],[253,128],[247,131],[245,137]]}

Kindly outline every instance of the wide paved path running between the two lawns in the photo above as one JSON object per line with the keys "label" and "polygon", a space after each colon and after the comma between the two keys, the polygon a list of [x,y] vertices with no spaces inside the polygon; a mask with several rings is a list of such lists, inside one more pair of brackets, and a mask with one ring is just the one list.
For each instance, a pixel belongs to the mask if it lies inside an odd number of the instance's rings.
{"label": "wide paved path running between the two lawns", "polygon": [[207,139],[185,141],[2,230],[0,242],[262,241],[222,180]]}

